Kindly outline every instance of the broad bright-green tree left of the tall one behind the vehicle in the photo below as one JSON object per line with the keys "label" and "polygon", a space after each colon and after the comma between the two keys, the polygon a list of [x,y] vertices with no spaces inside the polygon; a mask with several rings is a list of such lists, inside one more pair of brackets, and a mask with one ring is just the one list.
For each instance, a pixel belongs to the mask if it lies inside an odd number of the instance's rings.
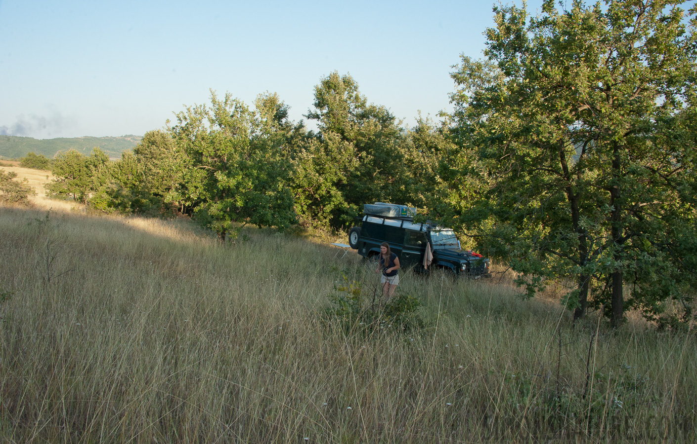
{"label": "broad bright-green tree left of the tall one behind the vehicle", "polygon": [[270,140],[268,118],[229,93],[219,99],[211,91],[210,107],[188,107],[171,128],[176,149],[186,156],[183,195],[222,241],[233,223],[286,228],[295,221],[288,163]]}

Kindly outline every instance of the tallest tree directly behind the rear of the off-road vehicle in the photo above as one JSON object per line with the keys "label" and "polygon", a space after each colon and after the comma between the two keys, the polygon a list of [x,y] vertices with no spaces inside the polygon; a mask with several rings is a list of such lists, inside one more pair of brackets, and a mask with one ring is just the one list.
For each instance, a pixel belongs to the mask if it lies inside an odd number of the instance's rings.
{"label": "tallest tree directly behind the rear of the off-road vehicle", "polygon": [[[373,200],[401,200],[404,132],[384,106],[369,104],[358,83],[332,72],[315,87],[320,133],[298,145],[294,176],[299,214],[334,226]],[[314,140],[313,140],[314,139]]]}

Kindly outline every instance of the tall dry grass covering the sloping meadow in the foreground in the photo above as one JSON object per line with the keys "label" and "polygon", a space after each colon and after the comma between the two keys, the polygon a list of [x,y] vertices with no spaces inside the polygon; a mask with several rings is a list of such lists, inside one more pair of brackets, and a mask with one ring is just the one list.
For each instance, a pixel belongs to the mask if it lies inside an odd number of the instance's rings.
{"label": "tall dry grass covering the sloping meadow in the foreground", "polygon": [[[44,204],[42,204],[44,205]],[[523,301],[508,281],[400,292],[427,326],[346,334],[355,253],[271,230],[0,208],[0,436],[24,442],[688,442],[692,335]],[[337,254],[338,253],[338,254]],[[664,441],[665,438],[665,441]]]}

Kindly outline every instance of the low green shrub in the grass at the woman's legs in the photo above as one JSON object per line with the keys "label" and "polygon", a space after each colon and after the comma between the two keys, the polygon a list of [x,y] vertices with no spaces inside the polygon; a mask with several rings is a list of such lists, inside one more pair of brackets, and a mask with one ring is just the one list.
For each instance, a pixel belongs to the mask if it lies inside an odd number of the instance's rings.
{"label": "low green shrub in the grass at the woman's legs", "polygon": [[379,289],[367,294],[363,283],[349,281],[344,273],[341,276],[343,282],[329,295],[332,307],[327,313],[346,333],[407,332],[424,328],[426,323],[419,314],[423,304],[417,296],[397,292],[383,301],[377,294]]}

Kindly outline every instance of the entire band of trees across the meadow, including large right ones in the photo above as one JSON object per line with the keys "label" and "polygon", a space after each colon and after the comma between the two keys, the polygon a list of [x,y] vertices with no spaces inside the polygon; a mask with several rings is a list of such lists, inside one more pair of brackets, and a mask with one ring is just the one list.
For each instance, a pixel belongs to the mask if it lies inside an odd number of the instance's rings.
{"label": "entire band of trees across the meadow, including large right ones", "polygon": [[340,227],[363,203],[404,203],[510,264],[528,295],[570,285],[577,318],[619,325],[636,308],[682,328],[697,288],[697,21],[682,3],[498,7],[438,124],[403,127],[337,72],[305,116],[317,132],[275,94],[249,108],[212,93],[121,161],[82,158],[78,191],[59,170],[77,156],[61,154],[52,192],[191,214],[221,239],[236,223]]}

